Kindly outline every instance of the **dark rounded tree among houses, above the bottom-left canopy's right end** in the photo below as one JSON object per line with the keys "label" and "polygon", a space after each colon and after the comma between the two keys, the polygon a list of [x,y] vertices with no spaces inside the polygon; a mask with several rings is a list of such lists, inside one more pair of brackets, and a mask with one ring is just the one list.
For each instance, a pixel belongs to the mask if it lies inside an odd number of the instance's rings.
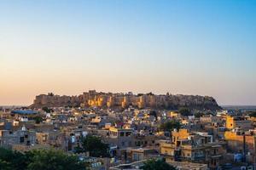
{"label": "dark rounded tree among houses, above the bottom-left canopy's right end", "polygon": [[102,143],[102,139],[96,136],[88,135],[82,140],[82,148],[77,148],[77,152],[89,151],[90,156],[94,157],[108,157],[109,146]]}

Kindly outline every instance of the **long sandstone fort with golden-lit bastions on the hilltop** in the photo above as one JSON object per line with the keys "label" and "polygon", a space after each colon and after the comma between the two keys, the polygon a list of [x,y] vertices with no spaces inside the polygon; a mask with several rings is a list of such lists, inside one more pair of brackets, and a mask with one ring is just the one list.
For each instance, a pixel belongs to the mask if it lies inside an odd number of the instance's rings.
{"label": "long sandstone fort with golden-lit bastions on the hilltop", "polygon": [[79,96],[60,96],[54,94],[40,94],[36,96],[31,108],[61,106],[82,106],[102,108],[128,108],[129,106],[139,109],[178,109],[188,107],[197,110],[218,110],[221,107],[216,100],[209,96],[183,95],[183,94],[113,94],[90,90]]}

